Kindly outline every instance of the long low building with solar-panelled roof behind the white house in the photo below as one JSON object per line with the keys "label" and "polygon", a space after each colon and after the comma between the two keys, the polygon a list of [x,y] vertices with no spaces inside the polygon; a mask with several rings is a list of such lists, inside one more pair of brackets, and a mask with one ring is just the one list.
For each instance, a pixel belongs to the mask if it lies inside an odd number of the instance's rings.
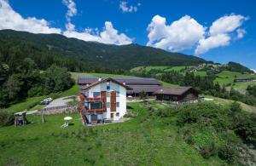
{"label": "long low building with solar-panelled roof behind the white house", "polygon": [[[95,83],[100,77],[79,77],[78,83],[80,87]],[[106,79],[107,77],[102,77]],[[152,96],[154,92],[161,89],[161,83],[152,77],[111,77],[119,83],[129,86],[127,96],[139,96],[141,92],[145,92],[147,96]]]}

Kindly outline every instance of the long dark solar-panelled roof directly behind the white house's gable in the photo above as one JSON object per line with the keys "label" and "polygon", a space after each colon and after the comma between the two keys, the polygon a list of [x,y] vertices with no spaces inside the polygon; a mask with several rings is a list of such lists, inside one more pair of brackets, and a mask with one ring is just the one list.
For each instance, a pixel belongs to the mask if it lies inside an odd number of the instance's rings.
{"label": "long dark solar-panelled roof directly behind the white house's gable", "polygon": [[[105,79],[108,77],[102,77]],[[152,77],[112,77],[119,83],[125,83],[126,85],[160,85],[160,82]],[[79,85],[86,85],[97,82],[99,77],[79,77]]]}

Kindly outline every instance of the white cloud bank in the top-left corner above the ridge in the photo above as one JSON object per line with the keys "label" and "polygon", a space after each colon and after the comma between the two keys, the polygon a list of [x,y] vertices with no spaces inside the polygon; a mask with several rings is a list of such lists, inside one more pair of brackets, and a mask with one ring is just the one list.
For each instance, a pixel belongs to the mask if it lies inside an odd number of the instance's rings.
{"label": "white cloud bank in the top-left corner above the ridge", "polygon": [[23,18],[8,1],[0,0],[0,30],[30,31],[33,33],[61,33],[60,28],[50,27],[49,22],[35,17]]}

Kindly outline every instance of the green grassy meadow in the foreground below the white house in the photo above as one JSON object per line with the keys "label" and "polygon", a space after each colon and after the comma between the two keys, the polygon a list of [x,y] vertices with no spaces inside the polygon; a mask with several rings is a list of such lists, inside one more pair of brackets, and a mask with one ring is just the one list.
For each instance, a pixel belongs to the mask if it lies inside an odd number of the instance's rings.
{"label": "green grassy meadow in the foreground below the white house", "polygon": [[[135,119],[83,127],[79,114],[38,116],[25,127],[0,128],[0,165],[222,165],[204,159],[177,134],[172,121],[148,116],[138,103],[129,103]],[[63,117],[73,125],[61,129]]]}

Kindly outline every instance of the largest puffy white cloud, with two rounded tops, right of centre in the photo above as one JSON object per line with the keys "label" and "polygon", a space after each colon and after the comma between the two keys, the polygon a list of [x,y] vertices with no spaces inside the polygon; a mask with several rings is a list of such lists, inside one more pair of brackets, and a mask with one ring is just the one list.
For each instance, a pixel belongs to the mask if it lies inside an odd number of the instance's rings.
{"label": "largest puffy white cloud, with two rounded tops, right of centre", "polygon": [[148,25],[148,46],[172,51],[190,49],[204,38],[205,27],[189,15],[166,25],[166,18],[155,15]]}

